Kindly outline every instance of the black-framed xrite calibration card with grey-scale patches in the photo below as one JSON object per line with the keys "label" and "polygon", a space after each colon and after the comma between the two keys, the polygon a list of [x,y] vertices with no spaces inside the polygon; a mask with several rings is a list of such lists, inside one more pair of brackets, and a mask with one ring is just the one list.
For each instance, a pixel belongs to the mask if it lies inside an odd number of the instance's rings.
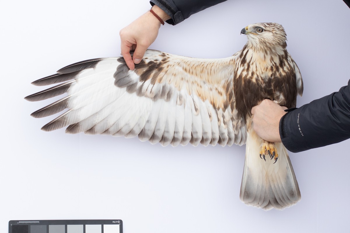
{"label": "black-framed xrite calibration card with grey-scale patches", "polygon": [[123,221],[11,220],[8,233],[123,233]]}

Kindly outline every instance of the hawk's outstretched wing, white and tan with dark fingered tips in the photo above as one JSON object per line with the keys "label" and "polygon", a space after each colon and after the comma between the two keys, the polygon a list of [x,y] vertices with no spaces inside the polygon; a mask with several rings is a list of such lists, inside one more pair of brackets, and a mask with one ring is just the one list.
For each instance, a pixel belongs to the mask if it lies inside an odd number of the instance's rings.
{"label": "hawk's outstretched wing, white and tan with dark fingered tips", "polygon": [[246,126],[233,109],[234,60],[235,56],[197,59],[147,50],[133,71],[123,58],[86,60],[34,81],[37,86],[56,86],[26,99],[65,94],[31,114],[46,117],[66,109],[43,126],[45,131],[68,126],[67,133],[139,136],[164,146],[241,145]]}

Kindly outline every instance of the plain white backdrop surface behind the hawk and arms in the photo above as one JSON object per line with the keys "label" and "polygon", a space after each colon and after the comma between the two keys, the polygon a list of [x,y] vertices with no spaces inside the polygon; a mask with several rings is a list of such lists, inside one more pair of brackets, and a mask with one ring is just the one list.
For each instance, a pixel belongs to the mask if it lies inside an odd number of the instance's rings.
{"label": "plain white backdrop surface behind the hawk and arms", "polygon": [[[139,232],[349,232],[350,141],[290,153],[302,194],[283,211],[239,201],[245,146],[151,145],[137,138],[43,132],[30,82],[77,61],[120,54],[119,30],[147,0],[3,1],[0,231],[8,220],[122,219]],[[162,26],[150,47],[219,58],[243,48],[240,30],[278,22],[304,79],[300,106],[350,78],[350,9],[342,0],[228,0]],[[332,135],[330,135],[332,137]]]}

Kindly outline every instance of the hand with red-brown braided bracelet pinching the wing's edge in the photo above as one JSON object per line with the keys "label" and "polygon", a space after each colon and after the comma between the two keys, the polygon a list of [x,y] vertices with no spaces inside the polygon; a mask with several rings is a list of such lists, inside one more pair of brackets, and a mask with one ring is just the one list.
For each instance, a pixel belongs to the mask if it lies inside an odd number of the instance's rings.
{"label": "hand with red-brown braided bracelet pinching the wing's edge", "polygon": [[[154,5],[152,10],[163,21],[170,19],[170,17],[157,5]],[[135,64],[140,63],[148,47],[157,38],[159,28],[160,21],[148,11],[120,30],[121,55],[124,57],[126,65],[130,70],[134,70]],[[133,57],[131,57],[130,54],[131,50],[135,50]]]}

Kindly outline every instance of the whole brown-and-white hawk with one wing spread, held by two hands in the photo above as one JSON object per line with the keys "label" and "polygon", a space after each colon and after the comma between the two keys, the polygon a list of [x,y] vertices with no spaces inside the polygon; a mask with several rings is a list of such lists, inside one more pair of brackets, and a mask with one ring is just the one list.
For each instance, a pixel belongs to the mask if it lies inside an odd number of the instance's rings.
{"label": "whole brown-and-white hawk with one wing spread, held by two hands", "polygon": [[229,58],[147,50],[135,70],[121,57],[66,66],[33,82],[56,86],[27,96],[29,101],[65,96],[32,116],[67,109],[42,129],[138,136],[163,146],[243,145],[248,137],[241,200],[266,210],[283,209],[300,199],[293,168],[283,145],[276,146],[280,159],[275,164],[260,160],[262,139],[252,131],[250,110],[263,99],[295,107],[296,93],[302,94],[301,74],[286,50],[282,26],[251,24],[242,32],[248,42]]}

